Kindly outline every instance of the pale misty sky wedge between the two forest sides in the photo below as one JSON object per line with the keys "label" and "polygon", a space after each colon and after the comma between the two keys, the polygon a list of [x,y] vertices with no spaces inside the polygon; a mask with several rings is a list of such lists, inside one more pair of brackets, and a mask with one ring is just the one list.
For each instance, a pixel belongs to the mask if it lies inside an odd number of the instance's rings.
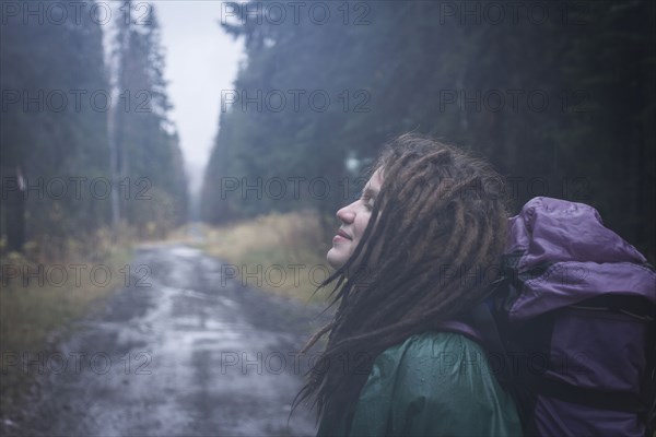
{"label": "pale misty sky wedge between the two forest sides", "polygon": [[220,1],[157,0],[166,52],[171,118],[180,135],[192,192],[218,132],[221,90],[233,88],[243,44],[220,27]]}

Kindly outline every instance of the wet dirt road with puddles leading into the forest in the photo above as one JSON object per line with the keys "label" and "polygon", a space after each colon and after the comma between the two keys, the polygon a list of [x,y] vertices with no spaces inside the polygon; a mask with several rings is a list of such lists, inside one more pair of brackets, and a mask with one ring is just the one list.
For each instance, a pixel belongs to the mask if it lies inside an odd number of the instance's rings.
{"label": "wet dirt road with puddles leading into the forest", "polygon": [[[140,271],[138,270],[142,268]],[[133,284],[82,321],[43,375],[15,434],[66,436],[313,435],[290,405],[311,355],[316,309],[222,277],[184,245],[141,247]],[[30,362],[32,361],[32,362]],[[23,363],[25,365],[25,363]]]}

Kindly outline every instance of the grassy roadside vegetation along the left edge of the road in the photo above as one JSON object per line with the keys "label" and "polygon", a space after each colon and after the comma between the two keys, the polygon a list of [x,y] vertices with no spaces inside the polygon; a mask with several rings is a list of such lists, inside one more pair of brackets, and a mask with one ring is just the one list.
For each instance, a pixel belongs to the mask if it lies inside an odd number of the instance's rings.
{"label": "grassy roadside vegetation along the left edge of the road", "polygon": [[59,366],[56,345],[74,322],[134,281],[133,233],[122,231],[120,239],[106,228],[85,239],[69,238],[57,257],[44,241],[26,243],[16,252],[0,240],[0,416],[37,389],[40,373]]}

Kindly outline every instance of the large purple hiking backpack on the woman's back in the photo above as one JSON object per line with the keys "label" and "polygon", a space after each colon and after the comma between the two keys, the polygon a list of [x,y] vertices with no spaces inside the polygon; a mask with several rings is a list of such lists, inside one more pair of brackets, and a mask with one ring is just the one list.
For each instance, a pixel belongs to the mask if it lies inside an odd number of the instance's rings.
{"label": "large purple hiking backpack on the woman's back", "polygon": [[535,198],[509,224],[502,280],[446,329],[485,346],[527,435],[651,435],[653,268],[583,203]]}

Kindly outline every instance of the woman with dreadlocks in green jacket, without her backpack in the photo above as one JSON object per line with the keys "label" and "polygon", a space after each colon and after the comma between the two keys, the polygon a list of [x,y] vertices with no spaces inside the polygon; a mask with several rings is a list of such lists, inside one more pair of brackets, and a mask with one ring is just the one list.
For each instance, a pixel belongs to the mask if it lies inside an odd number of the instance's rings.
{"label": "woman with dreadlocks in green jacket, without her backpack", "polygon": [[336,271],[323,286],[335,285],[339,306],[305,347],[328,334],[296,399],[314,399],[318,435],[520,433],[484,351],[440,330],[495,279],[507,218],[500,180],[454,147],[405,134],[337,212]]}

